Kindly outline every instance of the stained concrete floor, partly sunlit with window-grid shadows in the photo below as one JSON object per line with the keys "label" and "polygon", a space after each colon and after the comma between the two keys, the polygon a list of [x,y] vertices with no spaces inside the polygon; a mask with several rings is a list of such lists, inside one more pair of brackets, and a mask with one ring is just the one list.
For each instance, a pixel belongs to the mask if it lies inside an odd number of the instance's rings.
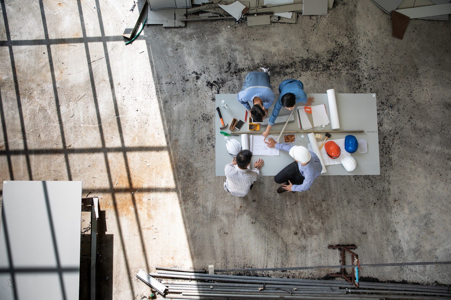
{"label": "stained concrete floor, partly sunlit with window-grid shadows", "polygon": [[[147,26],[126,46],[132,1],[0,2],[1,179],[83,180],[100,197],[98,299],[147,295],[140,268],[334,265],[334,244],[357,245],[363,263],[451,260],[450,22],[411,20],[397,40],[370,1],[336,0],[318,34],[316,16],[193,22]],[[268,176],[226,194],[214,97],[258,67],[274,90],[299,78],[308,93],[377,93],[381,175],[282,195]],[[361,273],[451,283],[446,265]]]}

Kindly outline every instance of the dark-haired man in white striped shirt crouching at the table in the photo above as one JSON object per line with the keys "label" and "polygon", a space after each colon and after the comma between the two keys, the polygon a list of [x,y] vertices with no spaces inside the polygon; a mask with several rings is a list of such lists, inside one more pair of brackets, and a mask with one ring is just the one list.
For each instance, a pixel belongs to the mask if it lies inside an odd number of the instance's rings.
{"label": "dark-haired man in white striped shirt crouching at the table", "polygon": [[253,170],[248,169],[251,158],[252,152],[242,150],[230,164],[226,165],[226,182],[224,183],[226,192],[238,197],[244,197],[250,192],[253,183],[260,176],[260,168],[263,166],[263,160],[259,158],[254,163]]}

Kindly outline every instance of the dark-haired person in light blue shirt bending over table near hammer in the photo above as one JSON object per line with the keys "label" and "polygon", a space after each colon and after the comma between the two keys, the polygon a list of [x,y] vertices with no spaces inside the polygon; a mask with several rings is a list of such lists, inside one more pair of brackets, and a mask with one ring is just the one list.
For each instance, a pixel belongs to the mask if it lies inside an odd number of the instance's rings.
{"label": "dark-haired person in light blue shirt bending over table near hammer", "polygon": [[248,73],[244,78],[243,88],[237,96],[239,103],[250,111],[250,116],[255,122],[263,121],[267,116],[268,108],[271,107],[276,98],[272,91],[267,70]]}

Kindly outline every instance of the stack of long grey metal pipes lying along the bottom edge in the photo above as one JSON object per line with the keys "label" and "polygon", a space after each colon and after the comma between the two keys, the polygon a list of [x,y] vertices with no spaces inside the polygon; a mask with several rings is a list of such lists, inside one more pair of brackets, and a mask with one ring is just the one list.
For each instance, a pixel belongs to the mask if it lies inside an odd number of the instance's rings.
{"label": "stack of long grey metal pipes lying along the bottom edge", "polygon": [[359,289],[356,289],[350,283],[341,280],[254,277],[200,272],[204,271],[187,272],[187,270],[183,270],[183,272],[178,272],[166,268],[166,270],[159,270],[158,273],[149,273],[149,275],[158,278],[189,280],[162,281],[162,284],[168,288],[166,298],[170,299],[451,300],[449,286],[360,282]]}

